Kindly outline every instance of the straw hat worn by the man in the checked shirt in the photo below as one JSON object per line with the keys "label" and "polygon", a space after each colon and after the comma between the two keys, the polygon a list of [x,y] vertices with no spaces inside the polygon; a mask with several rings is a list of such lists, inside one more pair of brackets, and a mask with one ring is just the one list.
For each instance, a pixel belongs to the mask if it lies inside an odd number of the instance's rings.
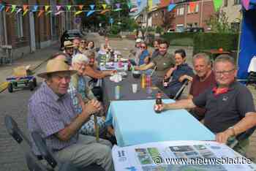
{"label": "straw hat worn by the man in the checked shirt", "polygon": [[39,73],[37,76],[46,78],[48,74],[55,72],[69,72],[70,75],[73,75],[77,71],[69,70],[69,65],[67,65],[64,60],[53,58],[48,61],[46,65],[46,71]]}

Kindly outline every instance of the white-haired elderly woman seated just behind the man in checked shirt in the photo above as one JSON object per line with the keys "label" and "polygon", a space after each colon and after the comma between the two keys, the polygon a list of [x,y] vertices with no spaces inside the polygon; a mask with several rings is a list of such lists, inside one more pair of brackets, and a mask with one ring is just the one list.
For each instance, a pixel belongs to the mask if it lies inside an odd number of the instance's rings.
{"label": "white-haired elderly woman seated just behind the man in checked shirt", "polygon": [[[83,77],[83,72],[86,69],[86,65],[89,63],[89,58],[83,54],[77,54],[72,58],[72,69],[76,70],[77,73],[72,75],[69,83],[69,94],[72,97],[72,102],[75,106],[77,113],[82,112],[80,107],[79,99],[83,99],[83,102],[87,103],[90,100],[97,100],[91,89],[86,82],[86,78]],[[80,97],[79,97],[80,96]],[[104,132],[105,121],[101,117],[97,117],[97,123],[99,126],[99,134]],[[94,116],[91,116],[90,120],[87,121],[80,129],[81,134],[94,135]]]}

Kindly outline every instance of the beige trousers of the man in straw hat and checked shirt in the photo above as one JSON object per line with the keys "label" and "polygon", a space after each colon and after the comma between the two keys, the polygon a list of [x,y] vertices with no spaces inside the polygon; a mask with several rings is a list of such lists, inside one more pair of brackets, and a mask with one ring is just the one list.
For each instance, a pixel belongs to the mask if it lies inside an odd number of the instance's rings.
{"label": "beige trousers of the man in straw hat and checked shirt", "polygon": [[95,137],[80,134],[76,144],[56,151],[54,155],[59,161],[71,162],[76,167],[98,164],[103,169],[112,171],[114,167],[111,148],[112,145],[108,140],[99,139],[97,143]]}

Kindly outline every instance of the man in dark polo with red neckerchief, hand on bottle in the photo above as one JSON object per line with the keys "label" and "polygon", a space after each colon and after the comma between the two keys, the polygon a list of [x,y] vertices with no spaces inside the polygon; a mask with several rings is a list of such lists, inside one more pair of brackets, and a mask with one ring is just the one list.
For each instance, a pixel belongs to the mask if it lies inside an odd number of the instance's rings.
{"label": "man in dark polo with red neckerchief, hand on bottle", "polygon": [[[255,104],[246,86],[236,81],[236,64],[227,55],[214,61],[214,75],[217,84],[193,99],[183,99],[169,104],[158,104],[160,110],[205,107],[204,125],[216,133],[217,142],[227,139],[256,126]],[[155,104],[157,105],[157,104]],[[239,153],[246,151],[249,140],[242,140],[233,148]]]}

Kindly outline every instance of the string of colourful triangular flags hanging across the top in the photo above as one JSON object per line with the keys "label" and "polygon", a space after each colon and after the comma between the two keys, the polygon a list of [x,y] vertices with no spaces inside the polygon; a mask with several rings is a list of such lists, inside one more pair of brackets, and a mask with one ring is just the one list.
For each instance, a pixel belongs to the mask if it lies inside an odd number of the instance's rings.
{"label": "string of colourful triangular flags hanging across the top", "polygon": [[[165,1],[165,0],[161,0]],[[250,0],[242,0],[242,4],[246,10],[249,9],[249,1]],[[222,0],[213,0],[214,2],[214,8],[217,11],[219,7],[222,5]],[[10,12],[11,14],[15,12],[17,15],[19,12],[23,13],[23,16],[27,14],[27,12],[38,12],[37,17],[42,16],[42,14],[45,13],[45,15],[49,15],[53,13],[54,15],[60,15],[62,12],[74,12],[74,15],[80,15],[82,12],[86,12],[86,17],[89,17],[94,12],[99,12],[101,15],[105,15],[106,12],[118,12],[123,10],[122,7],[124,5],[127,5],[129,8],[129,12],[136,12],[138,11],[140,5],[142,4],[142,0],[137,0],[137,6],[132,5],[131,1],[127,1],[127,3],[116,3],[113,6],[110,5],[110,1],[105,0],[106,4],[90,4],[90,5],[83,5],[83,4],[74,4],[74,5],[30,5],[30,4],[1,4],[0,3],[0,12],[5,10],[5,12]],[[173,1],[169,0],[169,5],[167,6],[167,11],[172,11],[176,4],[173,3]],[[198,1],[190,1],[189,2],[189,10],[190,12],[195,12],[195,8]],[[148,9],[151,11],[152,9],[152,0],[148,0]]]}

